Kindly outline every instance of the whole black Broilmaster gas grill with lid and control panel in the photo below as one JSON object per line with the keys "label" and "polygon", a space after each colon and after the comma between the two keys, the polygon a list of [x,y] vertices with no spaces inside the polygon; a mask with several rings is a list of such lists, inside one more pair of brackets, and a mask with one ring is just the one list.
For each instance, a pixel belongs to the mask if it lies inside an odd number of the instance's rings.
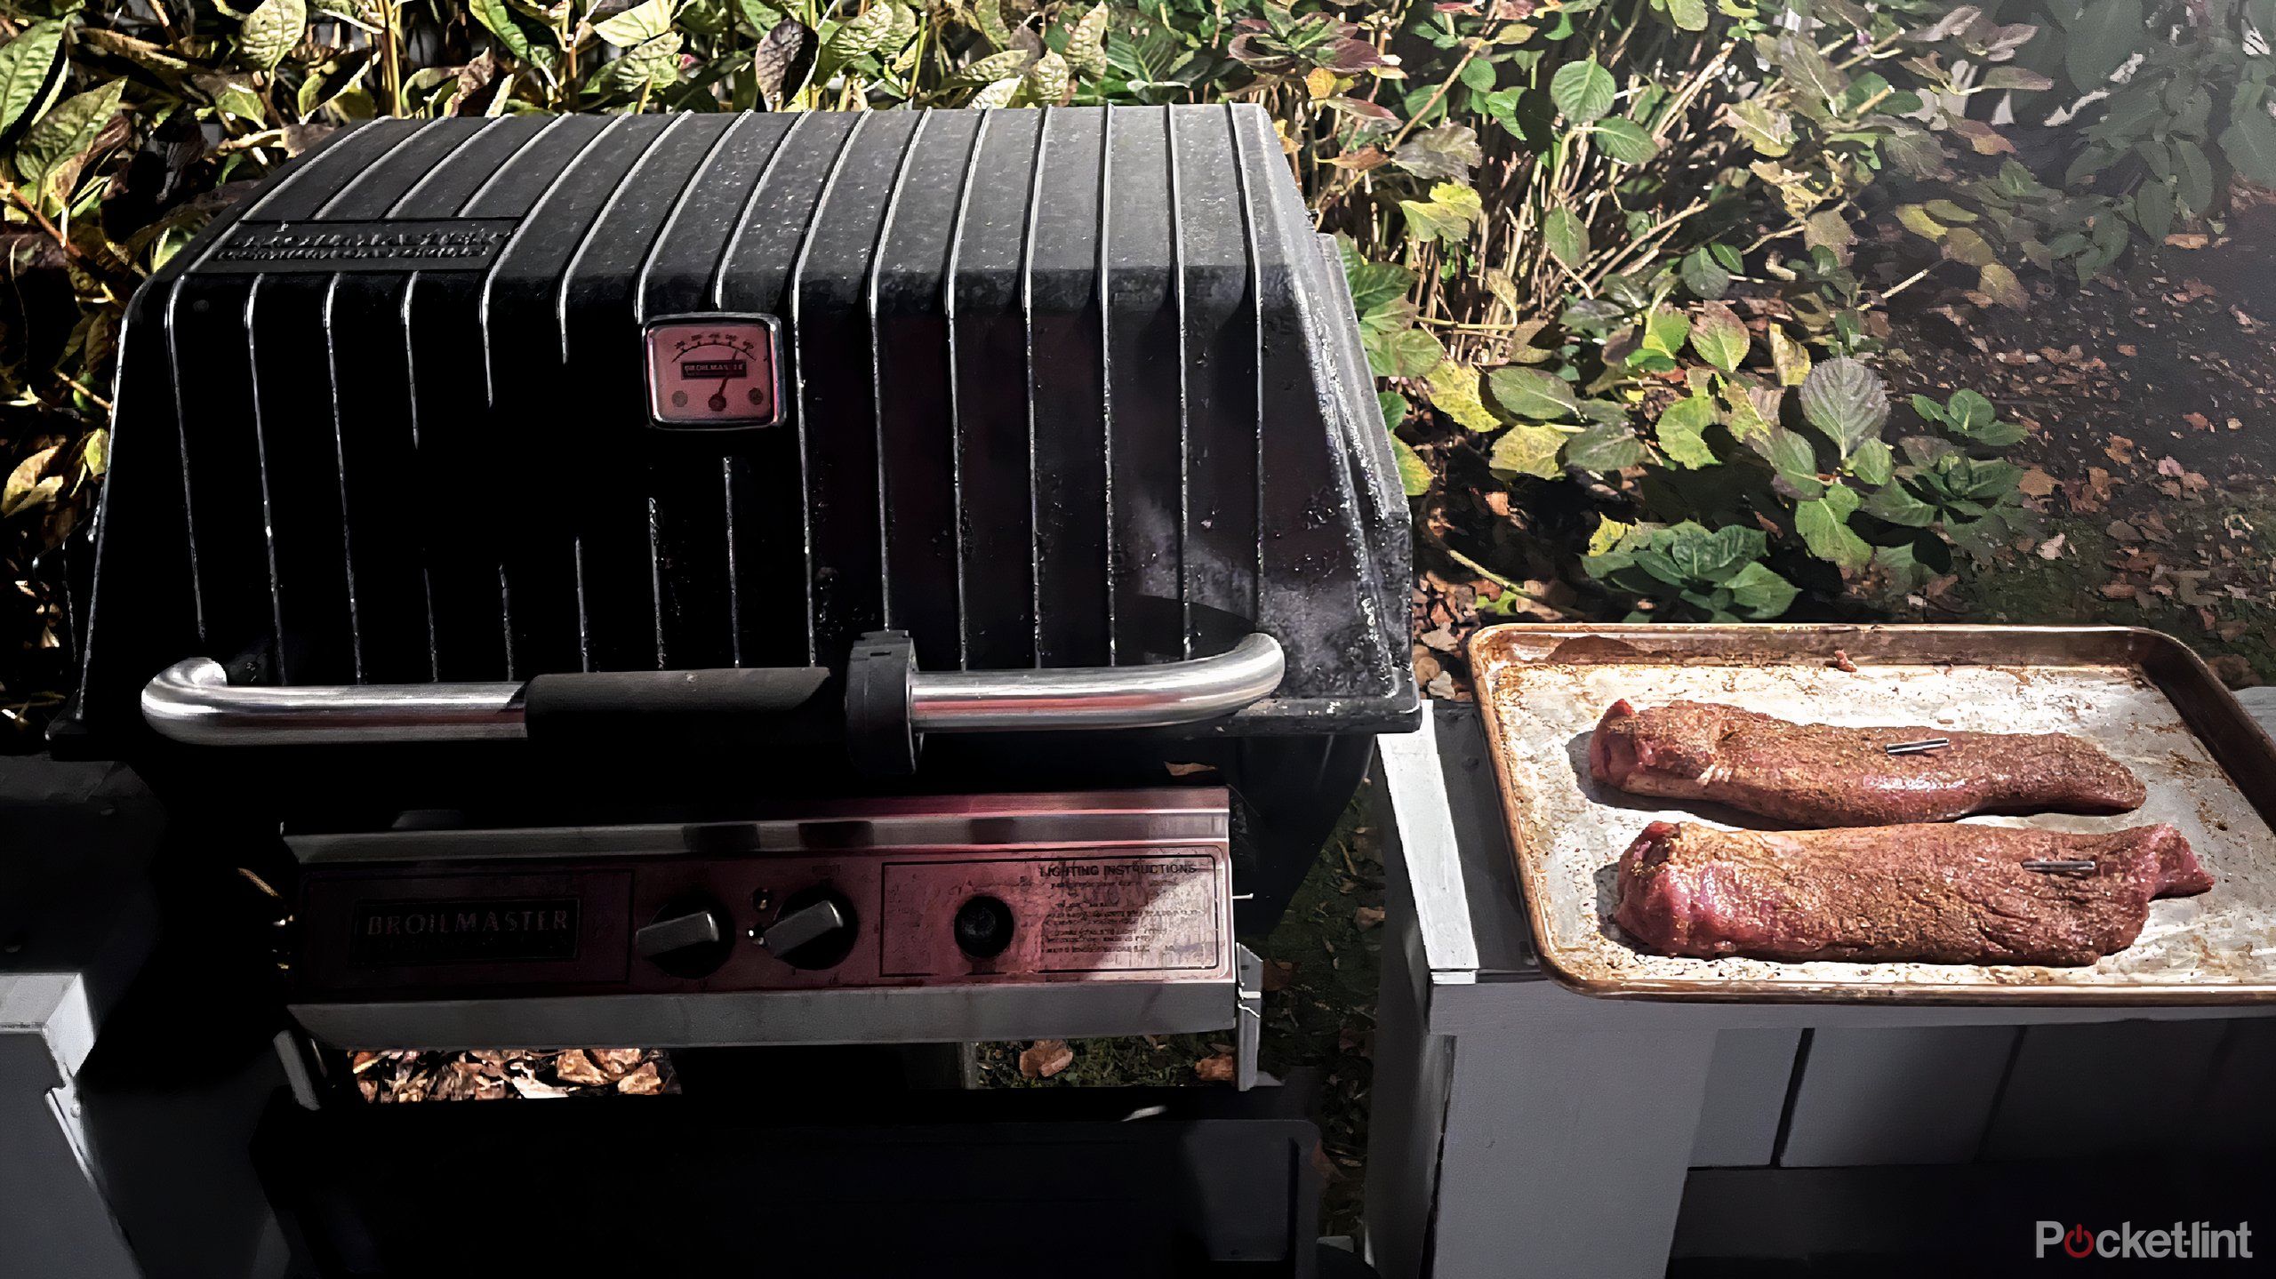
{"label": "whole black Broilmaster gas grill with lid and control panel", "polygon": [[116,403],[57,751],[284,881],[341,1047],[1252,1033],[1418,712],[1252,107],[339,130]]}

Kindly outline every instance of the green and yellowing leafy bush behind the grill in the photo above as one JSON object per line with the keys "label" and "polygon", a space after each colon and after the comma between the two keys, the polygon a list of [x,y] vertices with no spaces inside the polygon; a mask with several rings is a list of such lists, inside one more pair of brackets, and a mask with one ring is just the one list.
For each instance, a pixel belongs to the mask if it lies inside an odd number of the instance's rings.
{"label": "green and yellowing leafy bush behind the grill", "polygon": [[[2271,2],[0,0],[0,683],[20,712],[59,678],[32,560],[98,487],[125,298],[234,182],[371,116],[1261,102],[1345,244],[1411,494],[1463,457],[1584,494],[1525,553],[1607,605],[1773,617],[1803,594],[1764,574],[1932,571],[2017,530],[2005,432],[1971,401],[1885,439],[1878,310],[2021,307],[2028,271],[2276,178]],[[2001,105],[2073,112],[2053,166]]]}

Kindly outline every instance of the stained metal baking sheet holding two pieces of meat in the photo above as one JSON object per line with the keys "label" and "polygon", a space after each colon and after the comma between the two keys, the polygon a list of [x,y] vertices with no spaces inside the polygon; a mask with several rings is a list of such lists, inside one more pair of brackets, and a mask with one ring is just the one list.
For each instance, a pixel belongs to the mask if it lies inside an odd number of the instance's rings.
{"label": "stained metal baking sheet holding two pieces of meat", "polygon": [[[1841,658],[1848,662],[1841,662]],[[1891,1004],[2276,1001],[2276,744],[2205,665],[2153,630],[2094,626],[1495,626],[1477,696],[1543,969],[1600,997]],[[1841,669],[1855,665],[1855,671]],[[2114,831],[2171,822],[2212,892],[2151,906],[2092,967],[1668,958],[1614,924],[1614,865],[1650,822],[1778,826],[1598,787],[1589,733],[1616,699],[1721,701],[1800,724],[2076,733],[2149,785],[2117,817],[1969,817]]]}

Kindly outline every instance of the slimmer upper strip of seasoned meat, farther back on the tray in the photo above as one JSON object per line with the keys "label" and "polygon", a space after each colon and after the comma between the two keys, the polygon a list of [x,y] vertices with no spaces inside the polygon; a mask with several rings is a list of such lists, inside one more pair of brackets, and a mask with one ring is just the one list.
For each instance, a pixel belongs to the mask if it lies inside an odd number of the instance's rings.
{"label": "slimmer upper strip of seasoned meat, farther back on the tray", "polygon": [[[1925,737],[1953,744],[1887,751]],[[1834,728],[1705,701],[1611,703],[1589,740],[1589,774],[1632,794],[1712,799],[1805,826],[2126,812],[2146,799],[2126,765],[2064,733]]]}

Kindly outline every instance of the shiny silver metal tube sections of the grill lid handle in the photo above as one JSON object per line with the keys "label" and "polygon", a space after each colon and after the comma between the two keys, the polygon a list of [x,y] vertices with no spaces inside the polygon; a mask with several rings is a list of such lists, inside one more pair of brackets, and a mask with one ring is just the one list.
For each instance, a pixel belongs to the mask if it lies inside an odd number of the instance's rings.
{"label": "shiny silver metal tube sections of the grill lid handle", "polygon": [[[1286,660],[1270,635],[1213,658],[1147,667],[917,671],[920,733],[1163,728],[1270,696]],[[143,685],[150,728],[196,746],[498,742],[528,737],[519,683],[234,687],[221,662],[187,658]]]}

